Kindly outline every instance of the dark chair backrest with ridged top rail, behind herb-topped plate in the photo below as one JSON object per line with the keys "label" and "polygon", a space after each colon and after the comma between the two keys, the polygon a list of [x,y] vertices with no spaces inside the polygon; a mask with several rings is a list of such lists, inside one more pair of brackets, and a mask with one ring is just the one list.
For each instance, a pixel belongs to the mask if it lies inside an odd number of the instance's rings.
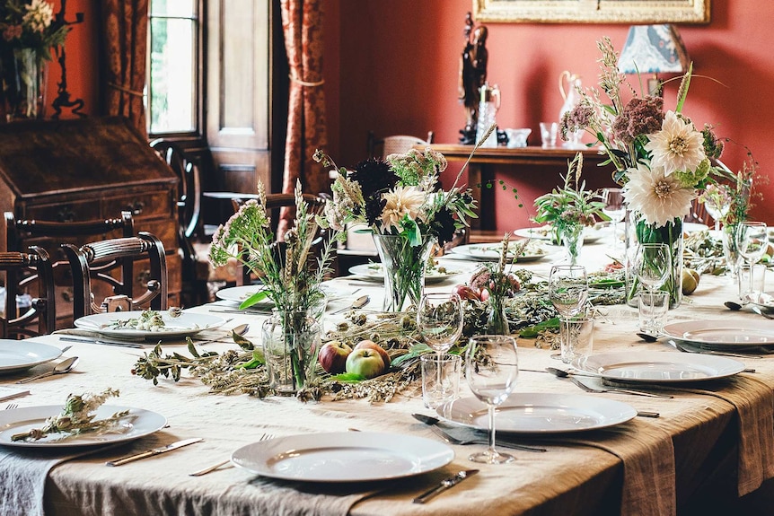
{"label": "dark chair backrest with ridged top rail, behind herb-topped plate", "polygon": [[[73,274],[73,315],[75,319],[105,311],[92,296],[92,281],[110,284],[113,293],[125,295],[131,310],[150,308],[167,309],[167,263],[162,241],[149,232],[136,237],[95,241],[76,247],[63,244]],[[150,273],[144,280],[145,293],[132,298],[133,263],[139,259],[150,261]],[[118,272],[117,275],[113,275]],[[118,277],[116,277],[118,276]]]}

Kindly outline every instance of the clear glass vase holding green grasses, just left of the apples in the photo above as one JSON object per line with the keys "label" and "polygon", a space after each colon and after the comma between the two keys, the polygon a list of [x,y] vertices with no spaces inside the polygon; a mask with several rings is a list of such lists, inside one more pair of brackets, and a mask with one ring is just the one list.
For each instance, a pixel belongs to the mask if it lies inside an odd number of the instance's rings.
{"label": "clear glass vase holding green grasses, just left of the apples", "polygon": [[280,395],[295,395],[316,380],[322,328],[312,310],[287,313],[274,309],[261,332],[271,389]]}

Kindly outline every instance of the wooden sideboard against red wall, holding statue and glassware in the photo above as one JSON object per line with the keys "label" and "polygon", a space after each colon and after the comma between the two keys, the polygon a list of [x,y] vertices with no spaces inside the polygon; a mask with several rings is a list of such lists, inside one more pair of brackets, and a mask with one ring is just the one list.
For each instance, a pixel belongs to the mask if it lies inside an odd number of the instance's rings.
{"label": "wooden sideboard against red wall, holding statue and glassware", "polygon": [[[422,150],[427,145],[417,145],[416,149]],[[444,154],[446,160],[451,163],[461,164],[470,158],[467,174],[462,178],[462,184],[471,187],[473,196],[476,197],[479,206],[480,217],[471,220],[471,239],[477,241],[482,238],[485,241],[502,238],[503,232],[498,232],[495,226],[495,191],[497,188],[480,188],[479,185],[494,184],[497,182],[497,172],[502,171],[512,186],[540,184],[541,193],[549,191],[560,181],[559,173],[567,172],[567,162],[575,157],[576,153],[584,155],[584,177],[589,181],[589,188],[601,188],[602,186],[614,186],[611,179],[612,168],[610,165],[600,166],[607,157],[596,149],[584,148],[580,151],[565,149],[562,147],[544,149],[538,146],[528,146],[509,149],[503,146],[480,147],[473,153],[473,145],[461,144],[430,144],[433,150]],[[459,171],[459,167],[457,167]],[[456,173],[456,171],[454,172]],[[520,188],[522,189],[522,188]],[[523,202],[530,203],[532,199],[523,198]],[[492,216],[488,216],[492,214]],[[507,231],[515,229],[513,226]]]}

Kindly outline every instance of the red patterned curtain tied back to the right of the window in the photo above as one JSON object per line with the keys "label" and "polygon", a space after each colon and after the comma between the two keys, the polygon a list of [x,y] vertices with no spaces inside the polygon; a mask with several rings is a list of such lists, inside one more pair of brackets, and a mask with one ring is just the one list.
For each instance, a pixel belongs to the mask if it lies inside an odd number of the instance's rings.
{"label": "red patterned curtain tied back to the right of the window", "polygon": [[[290,98],[282,191],[293,193],[301,179],[304,193],[328,189],[328,172],[312,160],[328,144],[322,90],[322,20],[324,0],[281,0],[282,29],[290,67]],[[279,234],[293,214],[281,215]]]}

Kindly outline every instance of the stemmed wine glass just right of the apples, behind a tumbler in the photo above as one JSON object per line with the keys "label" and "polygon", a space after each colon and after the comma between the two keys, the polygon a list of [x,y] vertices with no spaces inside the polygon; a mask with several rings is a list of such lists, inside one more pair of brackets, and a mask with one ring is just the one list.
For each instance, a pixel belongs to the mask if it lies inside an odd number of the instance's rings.
{"label": "stemmed wine glass just right of the apples, behind a tumbler", "polygon": [[443,386],[442,358],[462,335],[463,322],[462,299],[456,293],[426,293],[419,301],[417,328],[422,339],[435,350],[438,389]]}

